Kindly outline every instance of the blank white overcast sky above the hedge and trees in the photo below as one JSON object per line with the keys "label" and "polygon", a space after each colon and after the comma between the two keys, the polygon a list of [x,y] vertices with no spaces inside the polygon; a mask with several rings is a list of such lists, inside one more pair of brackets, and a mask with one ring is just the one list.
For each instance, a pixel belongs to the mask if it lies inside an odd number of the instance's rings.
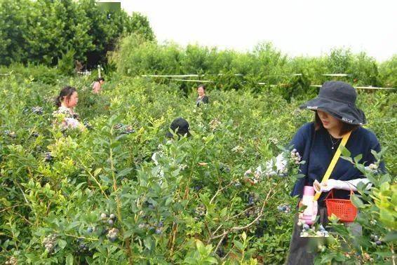
{"label": "blank white overcast sky above the hedge and trees", "polygon": [[250,50],[271,41],[289,55],[331,48],[365,51],[377,60],[397,54],[397,0],[121,0],[147,15],[159,41]]}

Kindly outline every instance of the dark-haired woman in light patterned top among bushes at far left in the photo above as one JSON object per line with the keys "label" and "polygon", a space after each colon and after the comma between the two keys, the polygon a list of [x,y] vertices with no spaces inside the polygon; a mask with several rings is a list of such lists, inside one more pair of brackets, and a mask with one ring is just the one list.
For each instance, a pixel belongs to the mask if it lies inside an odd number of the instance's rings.
{"label": "dark-haired woman in light patterned top among bushes at far left", "polygon": [[62,129],[79,128],[85,130],[86,127],[79,121],[79,114],[74,112],[77,102],[79,102],[79,94],[76,88],[72,86],[62,88],[60,95],[55,100],[55,105],[58,107],[53,112],[56,119],[55,124],[60,125]]}

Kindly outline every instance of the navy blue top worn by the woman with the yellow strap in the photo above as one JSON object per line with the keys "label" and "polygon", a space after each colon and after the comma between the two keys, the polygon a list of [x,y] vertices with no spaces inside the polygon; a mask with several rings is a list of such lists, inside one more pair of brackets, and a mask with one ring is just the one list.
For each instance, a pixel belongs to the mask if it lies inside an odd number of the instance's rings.
{"label": "navy blue top worn by the woman with the yellow strap", "polygon": [[[333,142],[335,144],[336,140],[333,140]],[[332,149],[328,131],[324,128],[315,130],[314,123],[306,123],[297,131],[290,145],[293,145],[302,156],[302,160],[306,161],[304,165],[300,165],[301,173],[305,177],[297,179],[291,193],[291,196],[299,195],[302,197],[305,185],[313,186],[315,179],[321,182],[339,144],[336,144],[335,149]],[[371,150],[379,152],[380,144],[373,132],[359,127],[351,132],[346,143],[346,149],[351,152],[351,157],[362,154],[363,158],[360,163],[369,165],[375,162],[375,157],[371,154]],[[380,169],[384,170],[383,163],[381,163]],[[355,168],[353,164],[339,158],[334,170],[332,170],[330,179],[351,180],[363,177],[363,173]],[[337,198],[349,198],[349,191],[336,191],[334,195]],[[323,201],[326,196],[327,193],[322,193],[318,201]]]}

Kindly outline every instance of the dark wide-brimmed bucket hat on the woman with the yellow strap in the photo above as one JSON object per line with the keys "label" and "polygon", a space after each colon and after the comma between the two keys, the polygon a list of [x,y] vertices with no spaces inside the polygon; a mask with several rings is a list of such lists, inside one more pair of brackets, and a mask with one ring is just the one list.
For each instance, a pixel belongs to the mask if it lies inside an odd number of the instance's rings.
{"label": "dark wide-brimmed bucket hat on the woman with the yellow strap", "polygon": [[342,81],[323,83],[318,96],[302,104],[301,109],[325,111],[344,123],[363,125],[365,114],[356,107],[357,93],[354,87]]}

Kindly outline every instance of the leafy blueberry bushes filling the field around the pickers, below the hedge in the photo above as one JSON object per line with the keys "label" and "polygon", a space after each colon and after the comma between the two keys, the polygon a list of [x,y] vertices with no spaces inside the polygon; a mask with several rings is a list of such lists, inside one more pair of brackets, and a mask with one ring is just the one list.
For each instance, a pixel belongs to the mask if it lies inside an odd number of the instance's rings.
{"label": "leafy blueberry bushes filling the field around the pickers, below the hedge", "polygon": [[[298,109],[310,95],[287,102],[276,88],[209,89],[210,104],[196,107],[194,87],[183,91],[179,83],[109,74],[94,95],[90,76],[46,82],[25,73],[0,77],[2,264],[285,261],[297,165],[285,177],[247,181],[244,173],[278,155],[311,121],[310,111]],[[78,88],[86,130],[53,126],[53,99],[65,84]],[[397,97],[377,91],[359,100],[368,128],[388,147],[379,156],[389,172],[368,172],[344,152],[374,187],[354,196],[361,236],[335,220],[320,229],[330,236],[318,247],[319,263],[396,259]],[[192,135],[169,140],[178,116]]]}

